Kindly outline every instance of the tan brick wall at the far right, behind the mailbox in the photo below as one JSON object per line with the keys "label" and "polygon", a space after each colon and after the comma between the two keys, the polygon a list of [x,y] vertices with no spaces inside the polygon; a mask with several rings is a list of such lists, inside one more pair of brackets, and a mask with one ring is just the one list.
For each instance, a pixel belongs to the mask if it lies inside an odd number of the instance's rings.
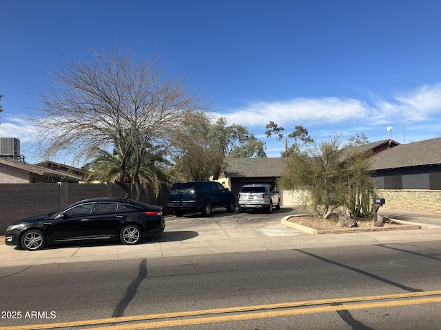
{"label": "tan brick wall at the far right, behind the mailbox", "polygon": [[398,208],[415,212],[441,214],[441,190],[379,189],[377,197],[386,199],[382,208]]}

